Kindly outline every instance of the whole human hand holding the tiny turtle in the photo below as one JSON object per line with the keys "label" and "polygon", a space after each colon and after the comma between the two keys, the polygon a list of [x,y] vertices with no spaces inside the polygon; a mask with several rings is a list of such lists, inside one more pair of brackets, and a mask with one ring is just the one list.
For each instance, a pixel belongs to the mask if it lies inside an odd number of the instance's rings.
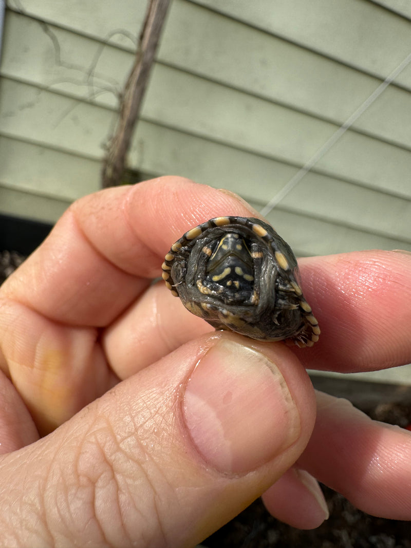
{"label": "whole human hand holding the tiny turtle", "polygon": [[263,492],[282,520],[316,527],[312,476],[411,519],[409,432],[317,395],[310,439],[300,364],[411,361],[410,258],[302,260],[312,349],[214,333],[150,280],[170,243],[227,214],[255,212],[178,178],[108,189],[73,204],[3,284],[0,544],[192,546]]}

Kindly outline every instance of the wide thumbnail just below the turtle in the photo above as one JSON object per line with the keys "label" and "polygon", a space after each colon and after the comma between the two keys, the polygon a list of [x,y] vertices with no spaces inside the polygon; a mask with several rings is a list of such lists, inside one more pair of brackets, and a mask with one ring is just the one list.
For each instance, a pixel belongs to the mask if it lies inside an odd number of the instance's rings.
{"label": "wide thumbnail just below the turtle", "polygon": [[184,415],[203,459],[229,473],[267,463],[300,434],[298,409],[276,364],[226,339],[219,340],[193,371]]}

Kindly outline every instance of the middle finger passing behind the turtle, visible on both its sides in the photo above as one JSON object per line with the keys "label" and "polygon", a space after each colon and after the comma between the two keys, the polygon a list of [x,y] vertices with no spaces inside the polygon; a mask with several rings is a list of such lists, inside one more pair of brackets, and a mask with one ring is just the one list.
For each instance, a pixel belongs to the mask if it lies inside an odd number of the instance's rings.
{"label": "middle finger passing behind the turtle, visible on both its sides", "polygon": [[[409,256],[345,253],[301,260],[300,270],[322,330],[311,349],[294,347],[305,367],[352,372],[411,362]],[[104,344],[117,375],[125,378],[208,330],[160,282],[118,318]]]}

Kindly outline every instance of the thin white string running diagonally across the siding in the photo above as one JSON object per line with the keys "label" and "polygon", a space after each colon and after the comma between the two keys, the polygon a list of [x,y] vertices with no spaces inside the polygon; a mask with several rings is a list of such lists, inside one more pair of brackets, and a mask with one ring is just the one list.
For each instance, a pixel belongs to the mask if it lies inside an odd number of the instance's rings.
{"label": "thin white string running diagonally across the siding", "polygon": [[317,150],[317,152],[311,156],[309,161],[307,161],[301,169],[282,187],[282,189],[277,192],[275,196],[261,209],[261,215],[267,215],[270,211],[277,206],[281,200],[287,196],[287,194],[294,189],[296,185],[301,181],[301,179],[310,171],[310,169],[330,150],[330,148],[335,145],[341,136],[344,135],[347,129],[362,115],[364,111],[377,99],[381,93],[391,84],[393,79],[395,79],[400,72],[406,68],[411,62],[411,53],[387,76],[383,83],[381,83],[378,88],[358,107],[358,109],[352,113],[352,115],[346,119],[346,121],[341,125],[335,133]]}

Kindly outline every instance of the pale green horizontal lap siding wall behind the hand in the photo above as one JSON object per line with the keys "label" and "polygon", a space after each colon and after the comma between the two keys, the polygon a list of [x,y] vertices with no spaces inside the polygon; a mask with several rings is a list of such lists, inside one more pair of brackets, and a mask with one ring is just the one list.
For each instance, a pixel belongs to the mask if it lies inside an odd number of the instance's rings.
{"label": "pale green horizontal lap siding wall behind the hand", "polygon": [[[116,9],[113,17],[105,11],[113,4],[99,2],[94,18],[95,1],[76,9],[77,3],[65,2],[64,10],[52,1],[23,0],[26,14],[7,13],[0,82],[0,184],[7,203],[12,191],[64,204],[98,188],[116,93],[133,58],[124,35],[138,34],[145,2],[124,0],[124,12]],[[276,2],[278,9],[282,4]],[[298,4],[289,3],[289,27],[298,27]],[[310,5],[319,9],[322,2]],[[261,207],[378,87],[376,76],[386,67],[383,60],[370,70],[370,59],[357,59],[368,73],[361,72],[318,44],[304,49],[290,36],[271,35],[273,28],[238,22],[245,17],[239,8],[247,11],[246,3],[224,2],[231,19],[174,0],[130,163],[145,173],[229,188]],[[397,33],[403,28],[402,18],[374,9],[391,30],[392,18]],[[49,21],[47,32],[37,17]],[[253,17],[250,24],[261,26]],[[103,44],[113,29],[126,32]],[[408,89],[387,89],[269,215],[299,253],[411,249],[410,107]]]}

